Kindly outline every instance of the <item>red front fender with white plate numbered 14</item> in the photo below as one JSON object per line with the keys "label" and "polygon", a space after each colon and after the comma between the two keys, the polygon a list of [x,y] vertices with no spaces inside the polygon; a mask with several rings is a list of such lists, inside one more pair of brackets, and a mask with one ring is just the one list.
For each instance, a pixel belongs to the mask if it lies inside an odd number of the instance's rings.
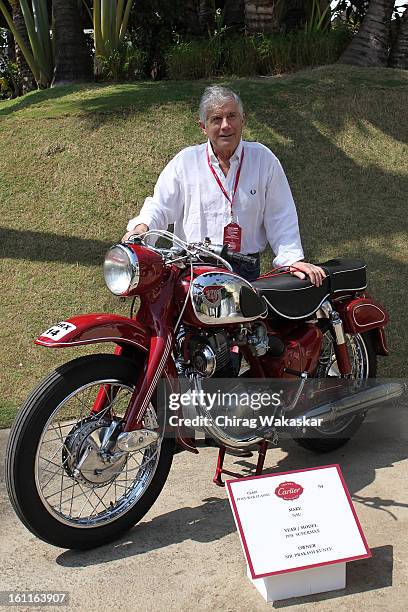
{"label": "red front fender with white plate numbered 14", "polygon": [[97,342],[115,342],[149,349],[150,333],[129,317],[114,314],[86,314],[56,323],[43,332],[35,343],[48,348],[79,346]]}

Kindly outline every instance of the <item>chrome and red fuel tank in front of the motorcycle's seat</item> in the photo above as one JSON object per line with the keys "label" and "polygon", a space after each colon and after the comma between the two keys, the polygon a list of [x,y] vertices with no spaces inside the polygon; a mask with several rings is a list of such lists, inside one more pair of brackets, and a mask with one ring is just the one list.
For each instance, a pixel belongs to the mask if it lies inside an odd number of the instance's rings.
{"label": "chrome and red fuel tank in front of the motorcycle's seat", "polygon": [[[179,307],[188,295],[190,281],[190,272],[186,272],[176,290]],[[191,292],[183,315],[183,322],[187,325],[235,325],[254,321],[266,313],[264,300],[251,283],[238,274],[212,266],[194,268]]]}

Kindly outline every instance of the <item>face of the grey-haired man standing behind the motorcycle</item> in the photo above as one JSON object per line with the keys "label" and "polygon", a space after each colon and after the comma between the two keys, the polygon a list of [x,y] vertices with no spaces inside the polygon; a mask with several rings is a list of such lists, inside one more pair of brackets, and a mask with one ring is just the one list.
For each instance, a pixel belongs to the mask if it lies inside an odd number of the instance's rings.
{"label": "face of the grey-haired man standing behind the motorcycle", "polygon": [[244,119],[234,100],[211,108],[206,125],[200,121],[200,127],[211,141],[214,152],[229,156],[233,154],[241,140],[243,125]]}

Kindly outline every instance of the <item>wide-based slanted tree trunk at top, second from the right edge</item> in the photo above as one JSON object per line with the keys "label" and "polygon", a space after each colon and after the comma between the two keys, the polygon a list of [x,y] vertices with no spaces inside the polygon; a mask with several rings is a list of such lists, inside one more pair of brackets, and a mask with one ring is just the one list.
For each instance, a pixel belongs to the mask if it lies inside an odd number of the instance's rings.
{"label": "wide-based slanted tree trunk at top, second from the right edge", "polygon": [[371,0],[361,28],[339,59],[354,66],[387,66],[395,0]]}

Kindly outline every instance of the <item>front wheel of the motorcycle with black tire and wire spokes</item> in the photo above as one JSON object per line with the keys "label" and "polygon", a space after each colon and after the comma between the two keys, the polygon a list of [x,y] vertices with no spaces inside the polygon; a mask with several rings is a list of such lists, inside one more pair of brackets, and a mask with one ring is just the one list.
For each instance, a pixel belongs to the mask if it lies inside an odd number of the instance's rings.
{"label": "front wheel of the motorcycle with black tire and wire spokes", "polygon": [[[75,359],[52,372],[17,415],[6,454],[7,489],[21,521],[45,542],[77,550],[106,544],[140,521],[160,494],[174,439],[160,434],[120,460],[110,456],[110,463],[98,455],[103,433],[124,414],[140,367],[115,355]],[[109,404],[91,416],[101,388]],[[150,404],[145,426],[158,428],[158,421],[164,423],[163,415]]]}

